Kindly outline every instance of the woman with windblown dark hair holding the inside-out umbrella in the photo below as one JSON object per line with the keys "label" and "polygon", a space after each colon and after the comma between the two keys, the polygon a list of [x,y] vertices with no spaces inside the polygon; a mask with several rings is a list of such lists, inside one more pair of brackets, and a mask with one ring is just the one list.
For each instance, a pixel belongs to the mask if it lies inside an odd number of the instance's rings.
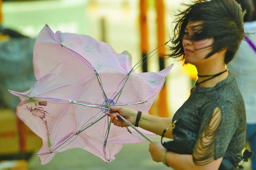
{"label": "woman with windblown dark hair holding the inside-out umbrella", "polygon": [[[246,116],[233,76],[226,70],[243,38],[243,14],[233,0],[197,1],[180,12],[171,57],[195,65],[199,73],[191,96],[170,118],[112,107],[114,125],[127,124],[174,139],[150,143],[152,159],[174,169],[234,169],[245,147]],[[231,164],[231,165],[230,165]]]}

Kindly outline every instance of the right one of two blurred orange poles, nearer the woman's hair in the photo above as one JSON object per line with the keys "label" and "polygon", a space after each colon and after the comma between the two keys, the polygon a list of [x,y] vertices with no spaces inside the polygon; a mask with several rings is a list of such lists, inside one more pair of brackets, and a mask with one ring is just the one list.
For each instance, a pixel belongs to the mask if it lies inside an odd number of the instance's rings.
{"label": "right one of two blurred orange poles, nearer the woman's hair", "polygon": [[[165,9],[163,0],[156,0],[156,23],[157,23],[157,37],[158,37],[158,46],[166,42],[166,24],[165,24]],[[159,49],[159,70],[164,69],[164,56],[166,55],[166,46]],[[162,91],[159,94],[158,100],[158,116],[160,117],[169,117],[168,111],[168,96],[167,96],[167,87],[164,85]]]}

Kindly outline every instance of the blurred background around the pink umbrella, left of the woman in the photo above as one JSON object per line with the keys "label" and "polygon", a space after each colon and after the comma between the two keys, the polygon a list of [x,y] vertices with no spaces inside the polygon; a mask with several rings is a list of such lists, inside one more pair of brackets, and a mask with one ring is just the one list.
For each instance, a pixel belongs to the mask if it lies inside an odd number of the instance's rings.
{"label": "blurred background around the pink umbrella, left of the woman", "polygon": [[[125,145],[114,162],[105,164],[81,150],[61,152],[47,165],[35,153],[41,140],[16,116],[19,103],[7,91],[27,91],[35,82],[32,50],[40,30],[86,34],[108,42],[118,53],[127,50],[133,65],[172,36],[172,21],[189,0],[0,0],[0,169],[168,169],[151,160],[148,143]],[[138,69],[159,71],[174,63],[150,114],[172,117],[195,83],[191,65],[167,58],[168,46]],[[159,140],[156,138],[155,140]],[[250,169],[249,167],[246,167]]]}

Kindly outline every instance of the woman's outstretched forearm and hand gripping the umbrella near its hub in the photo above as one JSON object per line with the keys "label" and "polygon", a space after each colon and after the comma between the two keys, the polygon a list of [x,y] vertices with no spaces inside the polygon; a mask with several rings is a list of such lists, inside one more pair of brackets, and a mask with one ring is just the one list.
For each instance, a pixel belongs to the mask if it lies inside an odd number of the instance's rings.
{"label": "woman's outstretched forearm and hand gripping the umbrella near its hub", "polygon": [[[120,127],[127,127],[128,125],[123,122],[123,120],[119,117],[119,114],[121,114],[123,117],[125,117],[131,124],[135,124],[136,117],[137,117],[137,111],[126,108],[126,107],[111,107],[111,111],[115,113],[109,113],[107,112],[108,116],[111,117],[111,121],[114,125],[120,126]],[[168,128],[166,131],[166,134],[164,137],[166,138],[172,138],[172,130],[170,128],[172,124],[171,118],[162,118],[157,116],[152,116],[150,114],[142,113],[141,120],[139,121],[139,127],[148,131],[151,131],[152,133],[162,135],[163,130]]]}

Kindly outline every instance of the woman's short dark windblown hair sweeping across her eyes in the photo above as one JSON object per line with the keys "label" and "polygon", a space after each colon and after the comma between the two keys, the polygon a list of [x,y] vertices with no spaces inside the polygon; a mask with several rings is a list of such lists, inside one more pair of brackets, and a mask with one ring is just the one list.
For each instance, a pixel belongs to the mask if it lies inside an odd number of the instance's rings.
{"label": "woman's short dark windblown hair sweeping across her eyes", "polygon": [[188,38],[192,41],[199,41],[213,37],[212,52],[205,58],[226,48],[224,62],[229,63],[236,54],[245,34],[241,6],[234,0],[200,0],[185,6],[187,9],[176,15],[174,37],[171,38],[173,45],[170,46],[171,54],[169,56],[184,59],[182,41],[185,28],[189,21],[200,21],[201,24],[192,28],[193,35]]}

